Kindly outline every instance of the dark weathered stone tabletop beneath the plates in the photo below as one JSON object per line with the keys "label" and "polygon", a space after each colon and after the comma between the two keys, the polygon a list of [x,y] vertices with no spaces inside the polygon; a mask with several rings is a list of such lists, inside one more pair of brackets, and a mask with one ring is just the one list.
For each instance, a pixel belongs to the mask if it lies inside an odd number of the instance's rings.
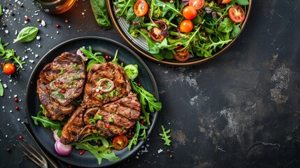
{"label": "dark weathered stone tabletop beneath the plates", "polygon": [[[127,44],[115,29],[104,31],[97,25],[88,0],[77,1],[62,15],[38,11],[31,0],[0,4],[13,13],[1,17],[6,23],[0,25],[2,41],[27,62],[13,76],[0,71],[6,85],[0,97],[0,167],[35,167],[13,144],[20,135],[33,142],[22,122],[29,120],[26,86],[38,60],[55,45],[78,36]],[[163,108],[141,151],[115,167],[300,167],[299,20],[299,0],[253,1],[243,33],[220,57],[194,66],[168,66],[143,57]],[[13,43],[15,32],[27,26],[38,27],[41,39]],[[161,125],[171,129],[171,146],[164,146],[159,136]]]}

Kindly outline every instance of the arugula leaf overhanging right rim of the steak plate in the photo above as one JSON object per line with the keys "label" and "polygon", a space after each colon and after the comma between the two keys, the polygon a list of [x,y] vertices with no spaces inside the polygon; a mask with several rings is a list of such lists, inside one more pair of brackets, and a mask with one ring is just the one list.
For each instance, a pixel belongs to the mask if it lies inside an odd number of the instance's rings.
{"label": "arugula leaf overhanging right rim of the steak plate", "polygon": [[150,115],[146,111],[147,104],[148,104],[148,109],[152,113],[154,113],[155,111],[160,111],[162,109],[162,103],[157,102],[157,99],[155,99],[153,94],[145,90],[142,86],[138,87],[136,82],[132,80],[130,82],[131,82],[132,89],[139,95],[139,100],[141,102],[141,111],[148,125],[150,125]]}

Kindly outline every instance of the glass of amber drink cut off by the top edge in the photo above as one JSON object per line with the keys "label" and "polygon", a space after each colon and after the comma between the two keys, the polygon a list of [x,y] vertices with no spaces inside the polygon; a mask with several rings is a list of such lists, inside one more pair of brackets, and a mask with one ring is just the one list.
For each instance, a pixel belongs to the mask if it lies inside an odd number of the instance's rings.
{"label": "glass of amber drink cut off by the top edge", "polygon": [[76,0],[34,0],[38,8],[50,14],[61,14],[69,10]]}

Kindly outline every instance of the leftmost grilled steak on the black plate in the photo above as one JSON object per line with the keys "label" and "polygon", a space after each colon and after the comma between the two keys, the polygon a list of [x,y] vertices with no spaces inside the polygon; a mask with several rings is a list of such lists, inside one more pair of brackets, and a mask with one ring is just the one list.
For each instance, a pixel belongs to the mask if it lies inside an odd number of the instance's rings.
{"label": "leftmost grilled steak on the black plate", "polygon": [[[47,64],[39,75],[38,96],[45,107],[46,117],[62,120],[62,114],[70,114],[73,99],[76,99],[85,84],[85,64],[82,57],[64,52]],[[63,109],[72,109],[64,112]]]}

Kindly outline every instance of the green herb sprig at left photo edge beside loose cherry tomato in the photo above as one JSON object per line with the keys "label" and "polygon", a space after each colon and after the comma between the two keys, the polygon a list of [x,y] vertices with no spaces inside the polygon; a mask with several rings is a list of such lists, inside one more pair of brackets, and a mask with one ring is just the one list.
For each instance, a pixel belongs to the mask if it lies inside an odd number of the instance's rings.
{"label": "green herb sprig at left photo edge beside loose cherry tomato", "polygon": [[23,68],[22,64],[24,64],[25,62],[22,62],[20,60],[20,57],[16,57],[15,56],[15,50],[13,50],[13,49],[5,49],[4,47],[6,47],[8,45],[8,43],[2,44],[1,40],[2,40],[2,38],[0,38],[0,56],[5,61],[13,59],[13,63],[19,64],[19,66],[17,67],[17,70],[19,70],[20,68]]}

